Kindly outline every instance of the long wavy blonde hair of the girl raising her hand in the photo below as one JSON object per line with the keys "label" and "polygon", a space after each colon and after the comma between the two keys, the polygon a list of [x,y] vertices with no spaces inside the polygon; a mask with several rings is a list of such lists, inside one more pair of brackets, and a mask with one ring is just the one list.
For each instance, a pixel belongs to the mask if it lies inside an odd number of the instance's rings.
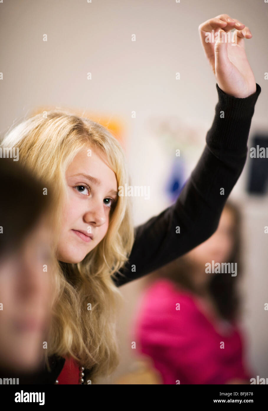
{"label": "long wavy blonde hair of the girl raising her hand", "polygon": [[[1,146],[18,148],[22,164],[48,185],[57,184],[56,233],[66,193],[65,171],[81,148],[102,150],[118,186],[129,183],[125,154],[117,139],[102,125],[66,110],[23,120],[5,135]],[[131,207],[127,196],[119,196],[103,240],[78,264],[57,262],[58,298],[47,357],[75,358],[91,370],[92,379],[110,374],[119,363],[115,314],[120,293],[112,276],[124,266],[133,246]],[[55,235],[55,248],[56,242]]]}

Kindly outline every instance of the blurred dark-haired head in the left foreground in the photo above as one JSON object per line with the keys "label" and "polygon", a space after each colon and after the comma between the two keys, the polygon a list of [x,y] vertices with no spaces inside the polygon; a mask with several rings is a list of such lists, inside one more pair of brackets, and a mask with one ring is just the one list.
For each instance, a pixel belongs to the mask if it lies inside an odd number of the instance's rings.
{"label": "blurred dark-haired head in the left foreground", "polygon": [[32,372],[53,303],[51,195],[12,159],[0,160],[0,175],[0,369]]}

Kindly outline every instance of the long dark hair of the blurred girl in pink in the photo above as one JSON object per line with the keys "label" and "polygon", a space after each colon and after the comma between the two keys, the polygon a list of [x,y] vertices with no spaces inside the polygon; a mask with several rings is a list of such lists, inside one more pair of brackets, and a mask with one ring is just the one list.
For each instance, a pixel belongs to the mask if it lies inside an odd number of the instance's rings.
{"label": "long dark hair of the blurred girl in pink", "polygon": [[[238,273],[235,277],[231,275],[213,275],[211,276],[208,288],[219,314],[222,318],[232,321],[237,317],[240,308],[237,283],[243,271],[241,267],[241,214],[238,207],[230,201],[226,203],[223,210],[231,211],[234,217],[234,247],[228,260],[230,263],[237,263]],[[172,280],[174,284],[197,293],[189,275],[193,264],[187,256],[182,256],[153,272],[148,277],[148,281],[151,283],[156,278],[165,277]]]}

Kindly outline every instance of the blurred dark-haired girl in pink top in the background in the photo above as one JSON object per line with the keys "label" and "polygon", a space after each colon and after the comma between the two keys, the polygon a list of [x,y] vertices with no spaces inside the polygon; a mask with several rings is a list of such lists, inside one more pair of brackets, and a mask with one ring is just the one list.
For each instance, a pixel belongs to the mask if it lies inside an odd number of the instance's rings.
{"label": "blurred dark-haired girl in pink top in the background", "polygon": [[[163,384],[249,383],[237,323],[240,224],[227,203],[213,236],[148,277],[134,332]],[[237,263],[237,275],[205,272],[212,260]]]}

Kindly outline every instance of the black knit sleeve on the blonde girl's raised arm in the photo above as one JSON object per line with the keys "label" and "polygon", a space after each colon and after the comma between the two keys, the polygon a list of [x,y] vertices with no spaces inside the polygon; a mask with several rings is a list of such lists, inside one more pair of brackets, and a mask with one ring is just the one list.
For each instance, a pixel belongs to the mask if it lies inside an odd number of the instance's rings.
{"label": "black knit sleeve on the blonde girl's raised arm", "polygon": [[251,119],[261,92],[256,86],[254,94],[236,98],[216,84],[218,103],[204,151],[176,202],[135,228],[130,257],[114,278],[117,286],[164,266],[215,232],[247,157]]}

